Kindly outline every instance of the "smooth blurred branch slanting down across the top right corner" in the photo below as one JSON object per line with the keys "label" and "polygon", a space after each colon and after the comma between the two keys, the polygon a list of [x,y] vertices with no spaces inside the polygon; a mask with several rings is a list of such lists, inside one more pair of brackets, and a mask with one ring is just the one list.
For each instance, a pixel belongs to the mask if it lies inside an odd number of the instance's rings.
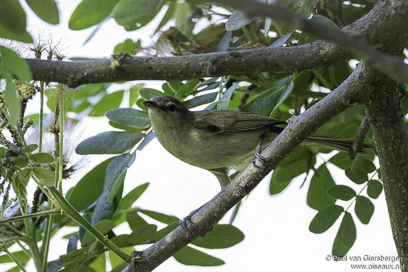
{"label": "smooth blurred branch slanting down across the top right corner", "polygon": [[[368,64],[380,71],[384,71],[390,77],[408,81],[408,65],[400,57],[375,49],[368,45],[361,37],[339,31],[327,24],[308,20],[308,18],[301,16],[299,13],[286,9],[277,1],[272,2],[272,4],[263,4],[254,0],[216,0],[216,2],[241,9],[249,17],[272,17],[289,24],[293,29],[302,30],[308,34],[313,34],[316,37],[344,46],[351,53],[363,57]],[[394,15],[399,13],[398,17],[405,20],[408,19],[408,13],[406,12],[408,10],[408,1],[383,0],[378,1],[376,5],[378,7],[388,5],[388,10],[394,9],[391,10]]]}

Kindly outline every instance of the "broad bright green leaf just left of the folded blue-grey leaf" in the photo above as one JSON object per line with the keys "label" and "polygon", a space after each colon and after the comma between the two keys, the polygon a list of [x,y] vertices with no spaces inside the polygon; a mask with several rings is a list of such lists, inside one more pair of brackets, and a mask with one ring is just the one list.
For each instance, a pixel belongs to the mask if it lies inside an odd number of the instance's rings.
{"label": "broad bright green leaf just left of the folded blue-grey leaf", "polygon": [[102,181],[105,181],[106,167],[114,158],[116,157],[99,163],[75,185],[72,193],[67,197],[75,210],[83,211],[98,199],[104,189]]}

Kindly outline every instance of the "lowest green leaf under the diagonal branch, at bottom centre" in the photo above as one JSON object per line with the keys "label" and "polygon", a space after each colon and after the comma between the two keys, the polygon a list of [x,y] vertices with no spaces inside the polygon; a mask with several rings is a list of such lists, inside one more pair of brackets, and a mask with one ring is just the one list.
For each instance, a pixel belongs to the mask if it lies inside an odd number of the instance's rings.
{"label": "lowest green leaf under the diagonal branch, at bottom centre", "polygon": [[176,252],[173,257],[177,262],[186,265],[217,266],[224,264],[223,260],[190,248],[190,246],[186,246],[184,249]]}

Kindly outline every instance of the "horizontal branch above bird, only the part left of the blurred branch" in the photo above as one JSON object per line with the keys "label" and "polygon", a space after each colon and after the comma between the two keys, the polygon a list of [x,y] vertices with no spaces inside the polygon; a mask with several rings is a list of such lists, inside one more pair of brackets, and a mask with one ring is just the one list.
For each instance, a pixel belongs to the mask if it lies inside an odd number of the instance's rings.
{"label": "horizontal branch above bird, only the part left of the blurred branch", "polygon": [[118,58],[119,66],[111,68],[110,60],[48,61],[27,59],[33,79],[56,81],[76,87],[87,83],[130,80],[186,80],[224,75],[248,75],[265,71],[301,71],[326,67],[347,56],[326,42],[260,48],[224,53],[178,57]]}

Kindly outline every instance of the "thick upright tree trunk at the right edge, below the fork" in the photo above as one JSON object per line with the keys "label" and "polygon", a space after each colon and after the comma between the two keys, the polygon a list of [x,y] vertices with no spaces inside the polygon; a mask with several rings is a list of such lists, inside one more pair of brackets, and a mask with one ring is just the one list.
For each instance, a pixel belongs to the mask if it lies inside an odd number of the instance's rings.
{"label": "thick upright tree trunk at the right edge, below the fork", "polygon": [[408,267],[408,132],[399,101],[398,83],[364,67],[366,105],[373,131],[391,228],[401,264]]}

